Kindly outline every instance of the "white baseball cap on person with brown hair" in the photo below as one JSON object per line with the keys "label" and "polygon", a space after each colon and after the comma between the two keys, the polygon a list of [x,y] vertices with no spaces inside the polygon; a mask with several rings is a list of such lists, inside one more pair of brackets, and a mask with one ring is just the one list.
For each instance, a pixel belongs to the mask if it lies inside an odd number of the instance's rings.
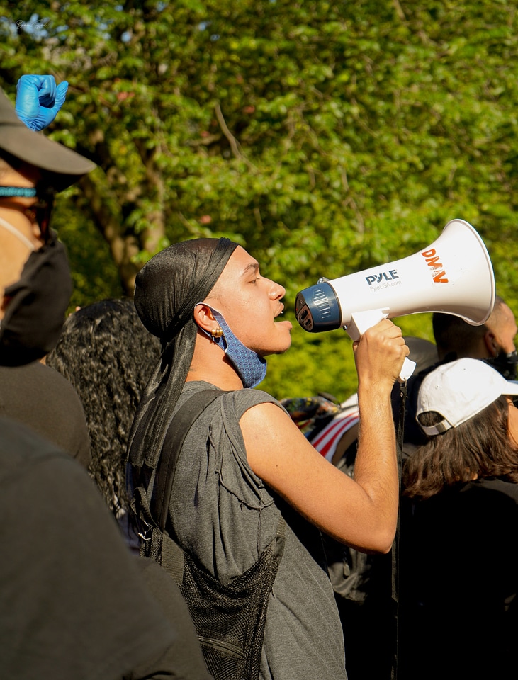
{"label": "white baseball cap on person with brown hair", "polygon": [[444,363],[425,376],[417,396],[417,416],[437,411],[444,420],[420,426],[431,436],[441,434],[473,418],[500,395],[518,396],[518,382],[505,380],[482,359]]}

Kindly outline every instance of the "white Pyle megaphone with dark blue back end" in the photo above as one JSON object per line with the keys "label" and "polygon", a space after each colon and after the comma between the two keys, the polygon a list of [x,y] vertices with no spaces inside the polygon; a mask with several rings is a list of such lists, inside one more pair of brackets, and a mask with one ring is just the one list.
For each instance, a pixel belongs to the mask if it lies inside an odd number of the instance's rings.
{"label": "white Pyle megaphone with dark blue back end", "polygon": [[[464,220],[451,220],[431,245],[414,255],[330,281],[320,278],[295,298],[295,317],[306,331],[343,327],[357,340],[382,319],[446,312],[472,326],[495,305],[495,275],[485,245]],[[405,360],[400,380],[415,368]]]}

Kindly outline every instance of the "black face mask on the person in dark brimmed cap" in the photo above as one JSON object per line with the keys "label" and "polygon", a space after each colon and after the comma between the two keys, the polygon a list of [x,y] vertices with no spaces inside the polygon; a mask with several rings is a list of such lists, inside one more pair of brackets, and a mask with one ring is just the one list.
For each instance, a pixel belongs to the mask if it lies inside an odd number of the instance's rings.
{"label": "black face mask on the person in dark brimmed cap", "polygon": [[30,254],[4,295],[9,301],[0,319],[0,365],[38,361],[57,344],[72,295],[67,251],[55,232]]}

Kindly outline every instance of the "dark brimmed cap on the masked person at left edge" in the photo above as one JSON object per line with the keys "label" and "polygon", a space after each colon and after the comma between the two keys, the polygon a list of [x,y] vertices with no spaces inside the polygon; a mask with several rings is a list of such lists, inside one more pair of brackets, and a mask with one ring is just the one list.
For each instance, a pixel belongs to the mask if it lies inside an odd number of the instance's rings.
{"label": "dark brimmed cap on the masked person at left edge", "polygon": [[67,188],[96,167],[72,149],[52,142],[42,132],[30,130],[0,89],[0,156],[2,151],[49,174],[45,181],[56,191]]}

